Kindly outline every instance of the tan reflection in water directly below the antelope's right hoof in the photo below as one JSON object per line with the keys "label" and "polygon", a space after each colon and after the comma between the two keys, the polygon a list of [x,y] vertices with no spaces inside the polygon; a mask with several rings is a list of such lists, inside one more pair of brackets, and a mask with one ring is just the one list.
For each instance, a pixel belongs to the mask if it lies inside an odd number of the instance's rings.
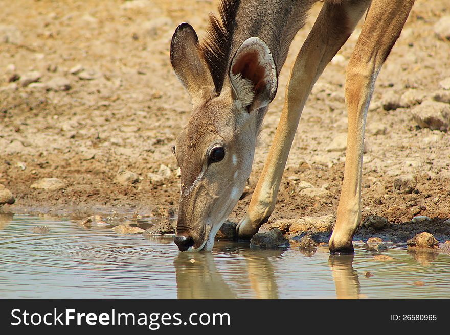
{"label": "tan reflection in water directly below the antelope's right hoof", "polygon": [[353,269],[353,256],[334,256],[328,258],[328,266],[333,276],[336,286],[336,296],[338,299],[358,299],[359,298],[359,278],[356,270]]}

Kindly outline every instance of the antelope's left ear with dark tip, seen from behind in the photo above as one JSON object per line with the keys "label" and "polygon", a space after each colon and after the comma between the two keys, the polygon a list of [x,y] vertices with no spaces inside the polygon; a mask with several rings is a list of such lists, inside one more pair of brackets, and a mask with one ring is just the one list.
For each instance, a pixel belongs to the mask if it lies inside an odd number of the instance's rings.
{"label": "antelope's left ear with dark tip, seen from behind", "polygon": [[197,34],[189,23],[181,23],[173,33],[170,62],[193,100],[201,95],[202,87],[214,87],[208,65],[199,52]]}

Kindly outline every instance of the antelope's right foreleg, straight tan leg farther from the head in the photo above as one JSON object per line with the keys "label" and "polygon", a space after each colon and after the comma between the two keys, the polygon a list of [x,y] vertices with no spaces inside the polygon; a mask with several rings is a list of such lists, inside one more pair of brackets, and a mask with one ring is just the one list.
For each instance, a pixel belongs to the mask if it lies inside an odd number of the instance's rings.
{"label": "antelope's right foreleg, straight tan leg farther from the head", "polygon": [[373,0],[347,66],[347,153],[338,219],[330,238],[331,253],[353,253],[352,239],[361,221],[361,171],[364,129],[375,79],[400,35],[413,0]]}

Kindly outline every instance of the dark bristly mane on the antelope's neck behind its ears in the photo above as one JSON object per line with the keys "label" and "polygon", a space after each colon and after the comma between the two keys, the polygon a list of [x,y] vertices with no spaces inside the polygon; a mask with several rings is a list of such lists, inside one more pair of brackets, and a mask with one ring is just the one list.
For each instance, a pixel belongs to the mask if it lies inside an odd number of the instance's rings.
{"label": "dark bristly mane on the antelope's neck behind its ears", "polygon": [[211,71],[217,94],[222,90],[228,71],[239,3],[240,0],[222,0],[219,5],[220,19],[210,14],[206,37],[200,45],[201,53]]}

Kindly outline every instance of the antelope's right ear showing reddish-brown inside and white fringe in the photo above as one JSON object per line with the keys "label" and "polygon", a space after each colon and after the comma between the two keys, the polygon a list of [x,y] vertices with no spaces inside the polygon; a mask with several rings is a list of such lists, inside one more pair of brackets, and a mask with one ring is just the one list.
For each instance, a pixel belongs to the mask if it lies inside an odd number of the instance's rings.
{"label": "antelope's right ear showing reddish-brown inside and white fringe", "polygon": [[267,106],[277,93],[278,74],[266,43],[258,37],[245,40],[230,65],[233,98],[249,112]]}

